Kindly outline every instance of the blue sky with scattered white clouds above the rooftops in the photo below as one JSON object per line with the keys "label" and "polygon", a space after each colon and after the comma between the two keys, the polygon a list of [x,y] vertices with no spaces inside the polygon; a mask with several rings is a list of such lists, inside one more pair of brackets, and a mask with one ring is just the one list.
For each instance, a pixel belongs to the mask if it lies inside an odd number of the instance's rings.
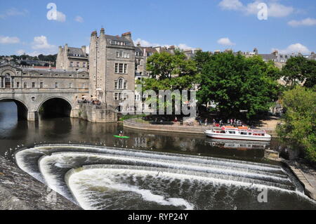
{"label": "blue sky with scattered white clouds above the rooftops", "polygon": [[[268,20],[259,20],[259,3]],[[57,20],[48,20],[48,3]],[[132,32],[143,46],[204,51],[316,51],[316,4],[310,0],[11,0],[0,2],[0,55],[57,53],[89,44],[93,30]]]}

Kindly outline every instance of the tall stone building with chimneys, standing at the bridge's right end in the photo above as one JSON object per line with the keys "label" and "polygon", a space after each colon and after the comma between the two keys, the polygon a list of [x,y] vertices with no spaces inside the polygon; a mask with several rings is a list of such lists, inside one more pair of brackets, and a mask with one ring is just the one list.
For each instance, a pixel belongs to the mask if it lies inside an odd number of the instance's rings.
{"label": "tall stone building with chimneys, standing at the bridge's right end", "polygon": [[135,46],[131,32],[119,36],[96,31],[91,34],[89,97],[118,112],[133,111],[135,91]]}

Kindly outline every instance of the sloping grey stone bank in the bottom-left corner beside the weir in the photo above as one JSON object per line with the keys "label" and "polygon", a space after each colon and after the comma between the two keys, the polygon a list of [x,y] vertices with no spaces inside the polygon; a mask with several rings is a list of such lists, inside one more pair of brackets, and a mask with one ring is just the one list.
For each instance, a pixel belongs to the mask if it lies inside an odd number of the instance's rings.
{"label": "sloping grey stone bank in the bottom-left corner beside the weir", "polygon": [[0,157],[0,210],[81,210]]}

